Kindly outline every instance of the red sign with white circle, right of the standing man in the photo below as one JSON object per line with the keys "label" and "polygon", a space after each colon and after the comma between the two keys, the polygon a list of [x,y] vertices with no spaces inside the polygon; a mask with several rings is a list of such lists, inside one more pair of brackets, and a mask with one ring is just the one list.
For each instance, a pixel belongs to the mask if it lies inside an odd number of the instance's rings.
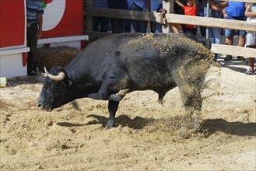
{"label": "red sign with white circle, right of the standing man", "polygon": [[42,38],[82,35],[82,0],[44,0]]}

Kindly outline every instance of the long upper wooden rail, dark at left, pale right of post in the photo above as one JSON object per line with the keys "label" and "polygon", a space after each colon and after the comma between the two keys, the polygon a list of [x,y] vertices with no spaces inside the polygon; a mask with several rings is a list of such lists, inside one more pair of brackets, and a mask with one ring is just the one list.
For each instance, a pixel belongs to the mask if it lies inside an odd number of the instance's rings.
{"label": "long upper wooden rail, dark at left, pale right of post", "polygon": [[[105,16],[119,19],[138,19],[161,23],[162,13],[159,12],[137,12],[121,9],[99,9],[86,7],[86,14],[89,16]],[[197,26],[208,26],[216,28],[230,28],[233,30],[244,30],[256,32],[256,23],[237,21],[231,19],[216,19],[200,16],[184,16],[178,14],[166,14],[168,23],[182,23]]]}

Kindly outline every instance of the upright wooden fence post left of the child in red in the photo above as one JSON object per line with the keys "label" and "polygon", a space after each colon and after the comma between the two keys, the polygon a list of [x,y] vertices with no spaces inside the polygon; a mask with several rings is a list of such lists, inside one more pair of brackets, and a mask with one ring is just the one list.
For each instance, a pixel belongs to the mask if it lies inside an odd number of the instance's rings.
{"label": "upright wooden fence post left of the child in red", "polygon": [[163,33],[170,33],[170,24],[167,23],[164,13],[174,13],[174,0],[163,0]]}

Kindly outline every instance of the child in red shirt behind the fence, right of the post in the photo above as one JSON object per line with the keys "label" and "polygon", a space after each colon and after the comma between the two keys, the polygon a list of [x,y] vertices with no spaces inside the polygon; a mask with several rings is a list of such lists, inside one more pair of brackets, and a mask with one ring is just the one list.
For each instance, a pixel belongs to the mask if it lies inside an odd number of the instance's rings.
{"label": "child in red shirt behind the fence, right of the post", "polygon": [[[198,9],[196,7],[195,0],[188,0],[187,5],[184,5],[179,0],[175,1],[178,5],[184,9],[185,16],[197,16]],[[197,27],[192,25],[182,25],[183,33],[196,35]]]}

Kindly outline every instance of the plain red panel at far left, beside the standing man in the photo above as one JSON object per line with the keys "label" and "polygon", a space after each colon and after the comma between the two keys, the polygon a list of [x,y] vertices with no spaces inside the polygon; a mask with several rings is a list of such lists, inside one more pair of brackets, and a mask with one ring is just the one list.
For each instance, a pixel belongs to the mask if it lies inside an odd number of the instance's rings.
{"label": "plain red panel at far left, beside the standing man", "polygon": [[0,0],[0,47],[25,43],[24,0]]}

